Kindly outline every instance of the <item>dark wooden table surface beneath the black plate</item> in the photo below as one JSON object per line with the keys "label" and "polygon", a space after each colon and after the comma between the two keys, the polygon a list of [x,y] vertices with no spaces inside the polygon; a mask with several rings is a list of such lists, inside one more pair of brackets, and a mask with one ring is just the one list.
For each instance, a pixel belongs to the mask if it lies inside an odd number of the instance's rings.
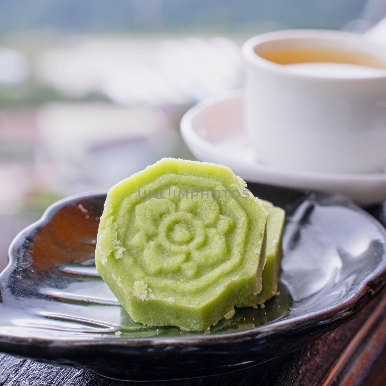
{"label": "dark wooden table surface beneath the black plate", "polygon": [[[370,208],[369,213],[386,226],[386,203]],[[0,354],[0,386],[127,384],[143,385],[144,383],[114,381],[91,371],[50,366],[29,359]],[[349,323],[289,356],[221,376],[146,384],[154,386],[160,384],[384,386],[386,385],[386,289]]]}

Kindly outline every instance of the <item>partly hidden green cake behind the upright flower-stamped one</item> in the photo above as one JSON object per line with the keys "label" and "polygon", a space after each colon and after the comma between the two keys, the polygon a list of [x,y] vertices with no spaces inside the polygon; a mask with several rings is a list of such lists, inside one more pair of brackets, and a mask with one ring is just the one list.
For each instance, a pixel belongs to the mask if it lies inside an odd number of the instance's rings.
{"label": "partly hidden green cake behind the upright flower-stamped one", "polygon": [[250,294],[236,304],[236,307],[253,307],[263,305],[274,296],[278,289],[278,276],[283,251],[281,236],[283,234],[285,212],[269,201],[261,200],[268,212],[266,262],[262,272],[262,289],[257,295]]}

